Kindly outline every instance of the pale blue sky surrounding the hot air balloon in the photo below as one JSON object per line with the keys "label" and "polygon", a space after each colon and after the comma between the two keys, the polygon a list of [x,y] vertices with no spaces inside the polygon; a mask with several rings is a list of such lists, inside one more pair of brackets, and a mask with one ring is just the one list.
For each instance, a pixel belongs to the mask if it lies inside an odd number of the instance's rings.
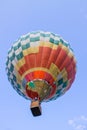
{"label": "pale blue sky surrounding the hot air balloon", "polygon": [[[21,35],[44,30],[60,34],[77,59],[71,89],[56,101],[42,103],[34,118],[30,101],[19,96],[7,80],[5,62],[12,43]],[[87,0],[0,1],[0,129],[87,130]]]}

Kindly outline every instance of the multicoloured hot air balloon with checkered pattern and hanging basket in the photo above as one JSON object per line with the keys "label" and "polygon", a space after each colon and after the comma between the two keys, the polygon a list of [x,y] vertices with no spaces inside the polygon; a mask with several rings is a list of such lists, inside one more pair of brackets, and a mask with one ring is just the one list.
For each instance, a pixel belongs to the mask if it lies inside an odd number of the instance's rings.
{"label": "multicoloured hot air balloon with checkered pattern and hanging basket", "polygon": [[39,116],[42,102],[56,100],[71,87],[76,60],[62,37],[51,32],[31,32],[13,43],[6,72],[18,94],[31,100],[32,114]]}

